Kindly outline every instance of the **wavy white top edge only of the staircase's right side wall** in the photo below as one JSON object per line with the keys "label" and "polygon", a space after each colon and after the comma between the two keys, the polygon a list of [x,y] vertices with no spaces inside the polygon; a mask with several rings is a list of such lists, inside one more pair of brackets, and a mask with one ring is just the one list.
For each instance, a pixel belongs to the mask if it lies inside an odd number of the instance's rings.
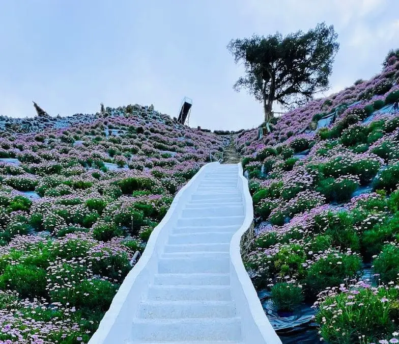
{"label": "wavy white top edge only of the staircase's right side wall", "polygon": [[[238,166],[239,182],[241,181],[242,194],[244,198],[243,202],[245,206],[245,219],[240,229],[232,237],[230,245],[231,264],[237,274],[238,281],[241,283],[244,297],[246,298],[246,302],[249,306],[250,315],[253,319],[255,326],[257,326],[257,328],[259,329],[261,338],[263,339],[262,344],[281,344],[280,338],[277,336],[269,320],[267,319],[257,292],[253,287],[248,273],[245,270],[241,257],[241,237],[252,225],[253,207],[252,197],[248,189],[248,180],[243,175],[243,169],[240,163],[238,164]],[[240,305],[237,306],[239,307]],[[245,320],[243,319],[243,321]],[[258,338],[258,340],[259,339],[260,338]],[[256,344],[258,344],[258,342]]]}

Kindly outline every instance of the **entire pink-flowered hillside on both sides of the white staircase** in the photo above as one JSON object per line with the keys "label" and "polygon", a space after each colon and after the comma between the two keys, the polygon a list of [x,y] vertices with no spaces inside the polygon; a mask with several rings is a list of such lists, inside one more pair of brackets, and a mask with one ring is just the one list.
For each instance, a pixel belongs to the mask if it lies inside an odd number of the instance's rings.
{"label": "entire pink-flowered hillside on both sides of the white staircase", "polygon": [[233,142],[152,106],[1,116],[0,343],[87,343],[173,197],[222,154],[249,179],[245,264],[283,342],[397,342],[398,83],[391,58]]}

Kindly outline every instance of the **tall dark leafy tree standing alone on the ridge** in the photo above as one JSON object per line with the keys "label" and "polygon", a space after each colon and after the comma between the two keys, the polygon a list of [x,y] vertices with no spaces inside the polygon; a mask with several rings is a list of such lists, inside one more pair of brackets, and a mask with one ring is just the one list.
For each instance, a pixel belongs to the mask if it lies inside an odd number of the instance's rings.
{"label": "tall dark leafy tree standing alone on the ridge", "polygon": [[319,23],[307,33],[298,31],[282,37],[233,39],[227,45],[235,62],[243,62],[246,75],[234,85],[236,91],[248,90],[263,101],[265,123],[273,118],[273,102],[291,109],[328,89],[328,77],[339,44],[334,27]]}

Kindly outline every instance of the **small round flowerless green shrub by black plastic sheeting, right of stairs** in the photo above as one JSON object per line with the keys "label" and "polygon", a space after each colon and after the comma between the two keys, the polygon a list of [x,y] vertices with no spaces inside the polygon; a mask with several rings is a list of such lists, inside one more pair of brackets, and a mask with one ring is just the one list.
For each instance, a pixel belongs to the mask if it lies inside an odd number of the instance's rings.
{"label": "small round flowerless green shrub by black plastic sheeting, right of stairs", "polygon": [[271,289],[273,305],[280,311],[294,311],[304,301],[302,288],[292,283],[276,283]]}

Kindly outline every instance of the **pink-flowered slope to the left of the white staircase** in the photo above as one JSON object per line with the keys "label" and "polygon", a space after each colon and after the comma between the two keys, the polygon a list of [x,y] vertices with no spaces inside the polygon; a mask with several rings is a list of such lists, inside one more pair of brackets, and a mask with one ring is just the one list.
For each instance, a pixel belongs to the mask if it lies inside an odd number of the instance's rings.
{"label": "pink-flowered slope to the left of the white staircase", "polygon": [[139,105],[2,121],[0,342],[87,343],[135,252],[223,141]]}

